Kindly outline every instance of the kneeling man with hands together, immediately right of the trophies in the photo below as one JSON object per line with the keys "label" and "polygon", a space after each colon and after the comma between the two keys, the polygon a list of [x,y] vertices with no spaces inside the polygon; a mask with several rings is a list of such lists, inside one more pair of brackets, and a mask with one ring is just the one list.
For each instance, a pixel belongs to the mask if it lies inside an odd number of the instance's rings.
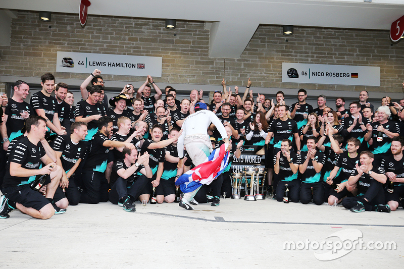
{"label": "kneeling man with hands together, immediately right of the trophies", "polygon": [[286,184],[289,189],[289,198],[292,202],[299,202],[300,180],[297,179],[299,169],[300,154],[296,155],[292,148],[292,141],[283,139],[281,142],[281,151],[274,156],[274,172],[279,175],[280,180],[276,186],[276,200],[283,201]]}

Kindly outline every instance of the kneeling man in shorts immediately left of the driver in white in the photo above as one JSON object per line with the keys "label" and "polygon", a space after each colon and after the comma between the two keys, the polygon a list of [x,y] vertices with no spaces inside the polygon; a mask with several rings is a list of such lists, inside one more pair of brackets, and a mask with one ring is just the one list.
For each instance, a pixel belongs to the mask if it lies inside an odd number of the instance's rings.
{"label": "kneeling man in shorts immediately left of the driver in white", "polygon": [[[179,130],[176,127],[170,130],[168,138],[178,138]],[[157,195],[157,202],[172,203],[175,200],[175,183],[174,181],[182,175],[184,168],[179,168],[177,170],[177,164],[180,161],[177,151],[177,141],[173,141],[170,145],[166,147],[166,152],[164,156],[164,169],[163,175],[161,176],[160,184],[156,188],[156,193],[163,193],[162,195]]]}

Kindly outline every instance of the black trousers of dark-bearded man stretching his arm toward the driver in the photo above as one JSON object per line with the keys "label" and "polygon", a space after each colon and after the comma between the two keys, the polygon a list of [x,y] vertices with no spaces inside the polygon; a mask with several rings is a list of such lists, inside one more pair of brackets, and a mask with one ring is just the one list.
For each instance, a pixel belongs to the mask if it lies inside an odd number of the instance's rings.
{"label": "black trousers of dark-bearded man stretching his arm toward the driver", "polygon": [[107,202],[109,184],[104,173],[86,170],[83,176],[80,203]]}

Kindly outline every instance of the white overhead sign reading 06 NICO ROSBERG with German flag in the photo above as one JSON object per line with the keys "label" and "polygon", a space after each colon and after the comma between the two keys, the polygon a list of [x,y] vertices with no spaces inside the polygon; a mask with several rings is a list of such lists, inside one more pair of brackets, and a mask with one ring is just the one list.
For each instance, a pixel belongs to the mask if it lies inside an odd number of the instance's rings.
{"label": "white overhead sign reading 06 NICO ROSBERG with German flag", "polygon": [[282,63],[282,82],[380,86],[380,67]]}

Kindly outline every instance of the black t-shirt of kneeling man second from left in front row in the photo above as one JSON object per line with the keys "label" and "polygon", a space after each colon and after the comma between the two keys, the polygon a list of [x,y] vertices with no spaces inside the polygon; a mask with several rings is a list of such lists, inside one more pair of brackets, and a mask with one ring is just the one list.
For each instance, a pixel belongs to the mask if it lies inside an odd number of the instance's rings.
{"label": "black t-shirt of kneeling man second from left in front row", "polygon": [[84,158],[87,150],[87,146],[83,141],[74,144],[70,139],[70,135],[59,135],[54,140],[52,148],[55,151],[62,152],[60,160],[66,173],[72,169],[79,159]]}

